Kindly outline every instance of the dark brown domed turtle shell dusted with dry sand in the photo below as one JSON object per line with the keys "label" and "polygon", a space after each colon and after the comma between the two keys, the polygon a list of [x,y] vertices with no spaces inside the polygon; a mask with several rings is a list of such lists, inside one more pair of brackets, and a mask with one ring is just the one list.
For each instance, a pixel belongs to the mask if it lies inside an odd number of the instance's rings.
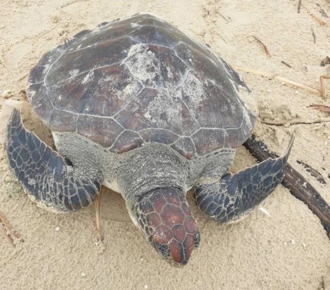
{"label": "dark brown domed turtle shell dusted with dry sand", "polygon": [[81,31],[41,58],[27,89],[53,131],[114,153],[160,142],[188,159],[248,138],[248,91],[208,47],[151,15]]}

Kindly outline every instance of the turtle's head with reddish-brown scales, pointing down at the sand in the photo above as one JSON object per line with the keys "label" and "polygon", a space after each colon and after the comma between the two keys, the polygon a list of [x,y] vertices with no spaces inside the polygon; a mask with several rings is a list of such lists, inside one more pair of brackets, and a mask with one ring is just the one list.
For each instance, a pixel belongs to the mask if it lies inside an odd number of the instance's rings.
{"label": "turtle's head with reddish-brown scales, pointing down at the sand", "polygon": [[200,242],[195,218],[183,192],[174,187],[153,189],[139,198],[135,223],[168,262],[185,265]]}

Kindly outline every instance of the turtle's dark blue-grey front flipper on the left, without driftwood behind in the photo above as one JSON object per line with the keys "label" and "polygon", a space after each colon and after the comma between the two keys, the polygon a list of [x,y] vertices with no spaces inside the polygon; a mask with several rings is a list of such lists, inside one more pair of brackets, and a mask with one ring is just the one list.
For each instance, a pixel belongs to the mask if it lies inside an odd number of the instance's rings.
{"label": "turtle's dark blue-grey front flipper on the left, without driftwood behind", "polygon": [[71,163],[24,128],[14,109],[7,128],[7,155],[13,172],[37,203],[59,212],[90,205],[101,189],[100,172]]}

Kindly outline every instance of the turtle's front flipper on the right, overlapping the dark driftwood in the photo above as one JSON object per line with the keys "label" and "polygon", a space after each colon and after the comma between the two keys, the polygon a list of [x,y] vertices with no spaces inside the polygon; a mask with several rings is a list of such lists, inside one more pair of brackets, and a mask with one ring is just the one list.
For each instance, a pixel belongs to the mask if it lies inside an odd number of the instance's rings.
{"label": "turtle's front flipper on the right, overlapping the dark driftwood", "polygon": [[250,212],[282,181],[293,140],[294,136],[284,156],[196,186],[194,198],[199,209],[217,222],[234,221]]}

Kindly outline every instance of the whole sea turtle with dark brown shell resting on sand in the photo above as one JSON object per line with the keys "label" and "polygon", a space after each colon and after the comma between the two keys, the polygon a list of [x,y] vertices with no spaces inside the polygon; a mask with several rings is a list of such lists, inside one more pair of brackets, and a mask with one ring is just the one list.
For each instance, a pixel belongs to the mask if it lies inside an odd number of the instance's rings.
{"label": "whole sea turtle with dark brown shell resting on sand", "polygon": [[147,14],[81,31],[45,54],[27,96],[57,149],[14,109],[8,159],[28,194],[72,212],[95,202],[102,185],[121,192],[134,224],[177,265],[200,243],[186,191],[211,219],[236,220],[282,180],[292,146],[230,174],[257,118],[249,88],[207,46]]}

